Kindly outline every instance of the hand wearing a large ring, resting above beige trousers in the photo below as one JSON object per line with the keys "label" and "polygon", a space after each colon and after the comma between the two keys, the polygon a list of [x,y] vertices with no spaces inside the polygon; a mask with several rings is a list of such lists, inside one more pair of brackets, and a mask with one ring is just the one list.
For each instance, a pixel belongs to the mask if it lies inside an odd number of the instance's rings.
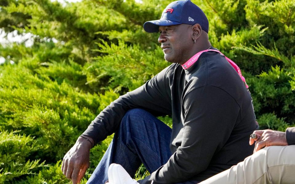
{"label": "hand wearing a large ring, resting above beige trousers", "polygon": [[252,145],[255,142],[255,148],[253,153],[256,151],[267,147],[267,146],[287,146],[287,140],[286,140],[286,133],[275,131],[275,130],[257,130],[254,131],[256,135],[259,136],[259,139],[255,140],[250,137],[249,144]]}

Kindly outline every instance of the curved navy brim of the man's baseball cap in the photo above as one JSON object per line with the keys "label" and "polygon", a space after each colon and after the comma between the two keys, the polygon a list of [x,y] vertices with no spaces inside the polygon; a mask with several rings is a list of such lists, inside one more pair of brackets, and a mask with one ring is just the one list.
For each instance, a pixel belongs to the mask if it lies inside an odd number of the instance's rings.
{"label": "curved navy brim of the man's baseball cap", "polygon": [[160,19],[155,21],[147,21],[144,23],[144,30],[148,33],[159,32],[159,26],[178,25],[181,22],[170,21],[167,19]]}

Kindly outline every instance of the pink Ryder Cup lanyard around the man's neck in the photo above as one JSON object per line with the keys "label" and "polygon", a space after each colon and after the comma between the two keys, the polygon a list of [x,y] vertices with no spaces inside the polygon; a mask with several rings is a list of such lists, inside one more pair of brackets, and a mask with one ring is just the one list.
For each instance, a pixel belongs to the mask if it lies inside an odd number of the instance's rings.
{"label": "pink Ryder Cup lanyard around the man's neck", "polygon": [[[187,69],[189,67],[191,67],[195,62],[197,62],[197,60],[199,59],[199,57],[201,56],[201,54],[203,52],[208,52],[208,51],[214,51],[214,52],[218,52],[220,53],[222,56],[224,56],[220,51],[218,50],[213,50],[213,49],[207,49],[207,50],[203,50],[201,52],[198,52],[195,54],[195,56],[191,57],[191,59],[189,59],[187,62],[185,62],[184,64],[182,64],[182,68],[183,69]],[[238,65],[236,63],[234,63],[232,60],[230,60],[228,57],[224,56],[226,58],[226,60],[231,64],[232,67],[234,67],[234,69],[238,72],[238,74],[240,75],[242,81],[244,82],[246,88],[248,89],[248,85],[246,84],[246,80],[245,77],[243,77],[242,72],[240,70],[240,68],[238,67]]]}

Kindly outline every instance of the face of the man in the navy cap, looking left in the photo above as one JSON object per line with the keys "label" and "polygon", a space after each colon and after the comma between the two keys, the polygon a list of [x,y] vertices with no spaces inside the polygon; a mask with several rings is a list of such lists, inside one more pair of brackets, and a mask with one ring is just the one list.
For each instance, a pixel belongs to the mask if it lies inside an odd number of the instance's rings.
{"label": "face of the man in the navy cap, looking left", "polygon": [[191,58],[192,26],[187,24],[159,26],[159,43],[164,58],[171,63],[183,64]]}

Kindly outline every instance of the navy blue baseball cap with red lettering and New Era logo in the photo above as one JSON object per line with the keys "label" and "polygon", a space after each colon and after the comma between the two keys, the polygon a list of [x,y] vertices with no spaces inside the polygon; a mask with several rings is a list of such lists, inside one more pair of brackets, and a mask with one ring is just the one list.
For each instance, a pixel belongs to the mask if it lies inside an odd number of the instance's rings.
{"label": "navy blue baseball cap with red lettering and New Era logo", "polygon": [[181,0],[171,2],[163,11],[160,20],[145,22],[144,30],[148,33],[156,33],[159,32],[159,26],[197,23],[208,33],[209,21],[205,13],[190,0]]}

